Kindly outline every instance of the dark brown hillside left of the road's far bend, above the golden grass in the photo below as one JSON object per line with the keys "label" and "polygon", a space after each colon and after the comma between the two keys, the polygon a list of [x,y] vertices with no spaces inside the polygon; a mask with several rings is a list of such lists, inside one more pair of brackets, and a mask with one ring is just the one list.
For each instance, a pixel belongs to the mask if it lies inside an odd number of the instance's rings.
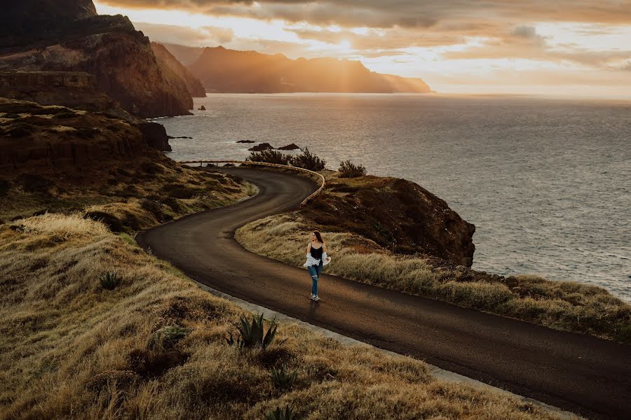
{"label": "dark brown hillside left of the road's far bend, above the golden grass", "polygon": [[243,181],[166,158],[133,123],[0,99],[0,223],[83,211],[133,232],[248,193]]}

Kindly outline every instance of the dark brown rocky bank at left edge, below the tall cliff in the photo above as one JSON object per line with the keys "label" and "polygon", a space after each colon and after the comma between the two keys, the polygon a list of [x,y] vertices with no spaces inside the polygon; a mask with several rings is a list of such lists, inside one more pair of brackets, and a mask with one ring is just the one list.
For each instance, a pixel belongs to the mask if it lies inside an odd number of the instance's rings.
{"label": "dark brown rocky bank at left edge, below the tall cliff", "polygon": [[[139,125],[65,106],[0,98],[0,176],[62,172],[162,158]],[[125,162],[127,162],[125,164]]]}

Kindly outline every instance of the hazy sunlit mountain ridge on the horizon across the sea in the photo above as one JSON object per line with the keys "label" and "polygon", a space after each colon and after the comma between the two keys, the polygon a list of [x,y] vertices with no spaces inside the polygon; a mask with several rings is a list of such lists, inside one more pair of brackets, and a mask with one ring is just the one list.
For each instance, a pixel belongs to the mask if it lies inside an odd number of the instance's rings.
{"label": "hazy sunlit mountain ridge on the horizon across the sea", "polygon": [[165,46],[183,62],[190,62],[199,53],[187,67],[207,92],[430,92],[420,78],[375,73],[361,62],[347,59],[290,59],[281,54],[228,50],[221,46],[201,51],[182,45]]}

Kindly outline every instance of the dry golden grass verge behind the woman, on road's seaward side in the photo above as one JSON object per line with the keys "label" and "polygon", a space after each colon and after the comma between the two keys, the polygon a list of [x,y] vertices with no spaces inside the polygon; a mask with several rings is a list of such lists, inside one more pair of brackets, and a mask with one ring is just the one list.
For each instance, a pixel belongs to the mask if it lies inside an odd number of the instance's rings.
{"label": "dry golden grass verge behind the woman, on road's seaward side", "polygon": [[[270,216],[240,228],[236,239],[252,252],[301,267],[313,225],[295,213]],[[349,232],[328,232],[325,240],[332,254],[327,273],[550,328],[631,343],[631,305],[604,288],[538,276],[475,277],[464,267],[435,268],[423,258],[393,255]]]}

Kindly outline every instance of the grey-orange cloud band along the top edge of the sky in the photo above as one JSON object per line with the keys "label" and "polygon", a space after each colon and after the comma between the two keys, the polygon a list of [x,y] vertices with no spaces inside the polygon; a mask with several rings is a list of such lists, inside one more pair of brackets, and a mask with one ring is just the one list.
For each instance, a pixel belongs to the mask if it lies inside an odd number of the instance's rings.
{"label": "grey-orange cloud band along the top edge of the sky", "polygon": [[631,1],[628,0],[100,0],[100,3],[346,27],[430,28],[454,19],[631,23]]}

